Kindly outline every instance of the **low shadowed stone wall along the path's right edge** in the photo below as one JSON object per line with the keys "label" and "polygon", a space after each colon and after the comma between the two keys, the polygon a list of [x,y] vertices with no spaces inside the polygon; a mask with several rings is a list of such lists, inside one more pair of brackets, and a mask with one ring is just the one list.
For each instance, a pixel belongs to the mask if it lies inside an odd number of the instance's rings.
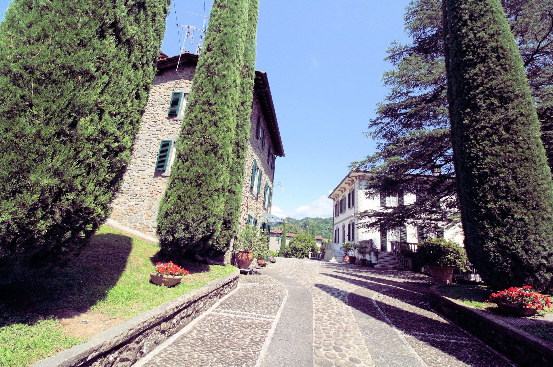
{"label": "low shadowed stone wall along the path's right edge", "polygon": [[464,305],[430,287],[430,304],[458,326],[522,366],[553,366],[553,344],[537,338],[488,312]]}

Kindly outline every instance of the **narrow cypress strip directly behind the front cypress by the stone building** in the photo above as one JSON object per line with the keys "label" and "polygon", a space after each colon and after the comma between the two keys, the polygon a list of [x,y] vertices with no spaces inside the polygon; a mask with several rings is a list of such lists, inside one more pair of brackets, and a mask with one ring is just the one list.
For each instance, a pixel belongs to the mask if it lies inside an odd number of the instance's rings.
{"label": "narrow cypress strip directly behind the front cypress by the stone building", "polygon": [[225,195],[225,215],[223,216],[221,233],[217,238],[215,246],[207,251],[214,254],[227,251],[232,238],[238,230],[244,169],[246,169],[246,153],[250,136],[259,1],[243,1],[246,3],[247,21],[243,22],[242,33],[240,35],[242,50],[241,67],[239,68],[238,118],[236,121],[236,135],[233,137],[232,157],[229,164],[229,180]]}

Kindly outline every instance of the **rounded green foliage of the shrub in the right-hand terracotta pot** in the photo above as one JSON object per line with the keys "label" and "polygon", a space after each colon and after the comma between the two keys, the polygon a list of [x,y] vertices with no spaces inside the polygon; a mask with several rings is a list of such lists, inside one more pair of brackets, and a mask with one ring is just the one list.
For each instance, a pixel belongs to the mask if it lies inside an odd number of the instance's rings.
{"label": "rounded green foliage of the shrub in the right-hand terracotta pot", "polygon": [[421,265],[469,270],[465,249],[444,238],[432,238],[419,243],[415,259]]}

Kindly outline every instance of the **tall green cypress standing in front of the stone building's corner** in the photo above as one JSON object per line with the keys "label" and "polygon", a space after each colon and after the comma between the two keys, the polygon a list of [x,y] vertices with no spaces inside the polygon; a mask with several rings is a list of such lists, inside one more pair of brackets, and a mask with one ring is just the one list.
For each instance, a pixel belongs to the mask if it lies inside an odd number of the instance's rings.
{"label": "tall green cypress standing in front of the stone building's corner", "polygon": [[[228,243],[219,237],[228,238],[236,228],[239,199],[232,180],[239,164],[234,161],[244,159],[247,139],[243,121],[237,123],[244,119],[241,103],[247,103],[248,87],[241,79],[253,75],[242,70],[247,5],[246,0],[213,2],[175,161],[159,206],[158,237],[164,253],[223,252]],[[247,57],[250,60],[252,55]]]}

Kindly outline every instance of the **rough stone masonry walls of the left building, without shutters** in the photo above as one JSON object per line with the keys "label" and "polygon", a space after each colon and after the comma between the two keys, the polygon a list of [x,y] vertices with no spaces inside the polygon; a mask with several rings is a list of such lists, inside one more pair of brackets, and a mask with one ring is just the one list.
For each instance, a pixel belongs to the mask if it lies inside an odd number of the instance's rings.
{"label": "rough stone masonry walls of the left building, without shutters", "polygon": [[[161,140],[176,140],[182,124],[181,116],[168,116],[169,102],[173,92],[188,93],[190,91],[194,72],[195,66],[180,66],[178,73],[174,70],[167,70],[156,76],[133,146],[131,162],[123,176],[121,189],[113,200],[110,219],[149,236],[156,237],[155,220],[158,215],[159,201],[165,192],[169,178],[169,171],[155,171],[154,169],[159,145]],[[259,115],[262,116],[262,127],[266,135],[264,149],[261,148],[262,139],[258,139],[255,135]],[[269,211],[269,208],[263,205],[265,180],[269,182],[270,187],[273,187],[274,177],[274,171],[267,159],[269,146],[271,152],[274,152],[272,141],[255,95],[251,121],[252,136],[249,139],[246,171],[244,172],[239,222],[241,226],[246,224],[248,213],[259,218],[264,211]],[[258,167],[262,167],[263,172],[259,197],[255,197],[257,185],[253,191],[250,190],[254,159],[257,159]]]}

